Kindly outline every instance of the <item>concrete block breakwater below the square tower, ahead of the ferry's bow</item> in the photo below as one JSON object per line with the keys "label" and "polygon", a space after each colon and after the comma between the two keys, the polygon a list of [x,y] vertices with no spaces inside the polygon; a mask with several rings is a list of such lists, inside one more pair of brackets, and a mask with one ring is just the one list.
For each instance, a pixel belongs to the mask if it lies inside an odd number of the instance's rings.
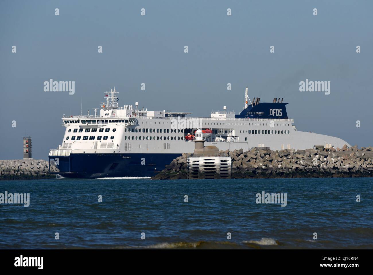
{"label": "concrete block breakwater below the square tower, ahead of the ferry's bow", "polygon": [[[0,160],[0,180],[50,179],[56,177],[49,174],[46,160]],[[56,166],[50,166],[51,172],[59,172]]]}

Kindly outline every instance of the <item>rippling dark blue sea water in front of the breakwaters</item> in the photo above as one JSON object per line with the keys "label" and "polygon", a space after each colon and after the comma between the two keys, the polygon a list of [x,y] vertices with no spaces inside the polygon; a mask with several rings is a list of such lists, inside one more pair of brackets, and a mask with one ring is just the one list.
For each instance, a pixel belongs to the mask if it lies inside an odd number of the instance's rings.
{"label": "rippling dark blue sea water in front of the breakwaters", "polygon": [[[0,248],[373,248],[369,178],[109,179],[1,181],[30,205],[0,204]],[[286,207],[256,204],[262,191]]]}

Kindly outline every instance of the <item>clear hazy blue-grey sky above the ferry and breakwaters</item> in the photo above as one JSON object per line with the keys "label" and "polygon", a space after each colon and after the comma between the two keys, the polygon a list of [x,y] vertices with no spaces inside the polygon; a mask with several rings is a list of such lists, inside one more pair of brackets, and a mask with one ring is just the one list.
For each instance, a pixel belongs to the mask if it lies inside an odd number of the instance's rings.
{"label": "clear hazy blue-grey sky above the ferry and breakwaters", "polygon": [[[251,99],[289,102],[298,130],[373,145],[372,8],[372,1],[1,1],[0,159],[22,158],[24,135],[33,157],[47,159],[62,142],[62,114],[78,114],[81,99],[83,113],[93,113],[113,86],[120,105],[195,116],[223,105],[241,112],[248,86]],[[75,94],[44,92],[50,78],[75,81]],[[300,92],[306,78],[330,81],[330,95]]]}

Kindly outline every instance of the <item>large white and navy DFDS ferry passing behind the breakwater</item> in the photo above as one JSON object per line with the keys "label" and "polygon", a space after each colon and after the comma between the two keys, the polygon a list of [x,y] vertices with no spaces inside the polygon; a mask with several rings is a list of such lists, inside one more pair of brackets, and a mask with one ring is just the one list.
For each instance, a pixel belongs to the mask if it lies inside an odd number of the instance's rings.
{"label": "large white and navy DFDS ferry passing behind the breakwater", "polygon": [[49,161],[54,161],[58,174],[76,178],[151,177],[182,153],[194,151],[192,140],[197,129],[203,130],[205,145],[223,151],[350,146],[338,137],[297,131],[283,98],[251,101],[247,87],[245,106],[239,114],[224,106],[210,117],[148,111],[138,108],[138,102],[119,106],[115,87],[104,95],[106,100],[94,108],[94,115],[62,116],[66,128],[62,144],[49,152]]}

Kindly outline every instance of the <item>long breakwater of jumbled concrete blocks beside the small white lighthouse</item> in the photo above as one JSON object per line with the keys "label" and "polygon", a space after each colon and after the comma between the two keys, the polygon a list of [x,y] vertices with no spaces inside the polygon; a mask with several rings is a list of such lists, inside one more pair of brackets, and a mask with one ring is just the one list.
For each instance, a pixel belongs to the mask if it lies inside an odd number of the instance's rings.
{"label": "long breakwater of jumbled concrete blocks beside the small white lighthouse", "polygon": [[[319,146],[320,148],[320,146]],[[291,177],[372,177],[373,147],[350,148],[347,145],[341,149],[285,149],[262,150],[253,148],[250,151],[234,150],[220,151],[231,157],[232,178],[291,178]],[[187,155],[174,159],[162,172],[152,179],[187,179]],[[215,167],[216,168],[216,167]],[[199,174],[198,174],[199,173]],[[201,169],[197,176],[204,177]],[[209,178],[220,178],[209,173]]]}

